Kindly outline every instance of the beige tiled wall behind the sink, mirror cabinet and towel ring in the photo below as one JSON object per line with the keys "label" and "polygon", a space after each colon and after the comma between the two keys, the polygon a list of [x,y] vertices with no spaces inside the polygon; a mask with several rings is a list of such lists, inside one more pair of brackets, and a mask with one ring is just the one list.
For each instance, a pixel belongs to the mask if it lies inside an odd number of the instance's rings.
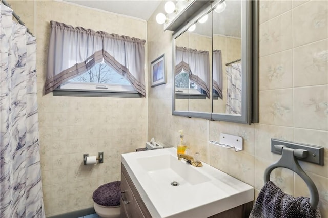
{"label": "beige tiled wall behind the sink, mirror cabinet and towel ring", "polygon": [[[147,23],[148,63],[165,52],[168,82],[149,89],[148,138],[176,146],[183,129],[203,161],[254,186],[256,195],[265,168],[280,157],[270,152],[271,138],[323,146],[324,166],[301,166],[318,188],[322,217],[328,217],[328,2],[259,1],[260,122],[252,125],[172,116],[172,32],[162,32],[155,21],[162,8]],[[242,136],[244,150],[209,145],[220,133]],[[309,195],[292,171],[278,168],[271,176],[286,193]]]}

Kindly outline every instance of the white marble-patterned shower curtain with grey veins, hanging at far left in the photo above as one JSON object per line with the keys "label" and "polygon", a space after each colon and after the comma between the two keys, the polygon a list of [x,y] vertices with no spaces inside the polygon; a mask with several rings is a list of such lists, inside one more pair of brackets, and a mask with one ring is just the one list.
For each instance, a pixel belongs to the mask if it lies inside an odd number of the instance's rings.
{"label": "white marble-patterned shower curtain with grey veins, hanging at far left", "polygon": [[45,217],[38,143],[36,39],[0,5],[0,217]]}

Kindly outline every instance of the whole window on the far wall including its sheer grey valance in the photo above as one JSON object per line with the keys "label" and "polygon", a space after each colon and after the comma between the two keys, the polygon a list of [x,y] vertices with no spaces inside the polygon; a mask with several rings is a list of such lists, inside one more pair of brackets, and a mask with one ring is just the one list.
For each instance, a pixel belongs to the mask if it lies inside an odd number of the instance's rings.
{"label": "whole window on the far wall including its sheer grey valance", "polygon": [[[128,93],[129,97],[132,97],[131,95],[146,97],[145,42],[146,40],[129,36],[103,31],[95,32],[91,29],[50,21],[44,94],[56,90],[57,93],[54,95],[60,93],[71,96],[98,96],[101,94],[116,97]],[[95,66],[101,61],[102,64]],[[114,70],[105,66],[105,63]],[[88,73],[86,69],[90,71],[92,67],[94,73]],[[121,83],[124,78],[115,75],[115,71],[119,73],[118,75],[123,75],[131,85]],[[86,75],[81,76],[83,73]],[[67,81],[78,76],[81,77]],[[64,94],[64,91],[71,93]]]}

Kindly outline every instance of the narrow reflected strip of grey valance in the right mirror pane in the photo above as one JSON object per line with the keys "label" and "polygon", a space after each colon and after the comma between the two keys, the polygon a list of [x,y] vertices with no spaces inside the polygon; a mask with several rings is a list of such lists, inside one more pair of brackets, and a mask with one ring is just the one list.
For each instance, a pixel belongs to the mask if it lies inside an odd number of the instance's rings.
{"label": "narrow reflected strip of grey valance in the right mirror pane", "polygon": [[222,95],[222,53],[221,50],[213,51],[213,89],[218,93],[219,98]]}

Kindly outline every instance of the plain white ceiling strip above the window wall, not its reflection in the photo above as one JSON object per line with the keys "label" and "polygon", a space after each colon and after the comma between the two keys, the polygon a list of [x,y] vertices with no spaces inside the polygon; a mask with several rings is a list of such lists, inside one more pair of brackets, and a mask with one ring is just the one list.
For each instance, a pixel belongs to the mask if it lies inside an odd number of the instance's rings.
{"label": "plain white ceiling strip above the window wall, not its reflection", "polygon": [[148,20],[161,0],[64,0],[90,8]]}

